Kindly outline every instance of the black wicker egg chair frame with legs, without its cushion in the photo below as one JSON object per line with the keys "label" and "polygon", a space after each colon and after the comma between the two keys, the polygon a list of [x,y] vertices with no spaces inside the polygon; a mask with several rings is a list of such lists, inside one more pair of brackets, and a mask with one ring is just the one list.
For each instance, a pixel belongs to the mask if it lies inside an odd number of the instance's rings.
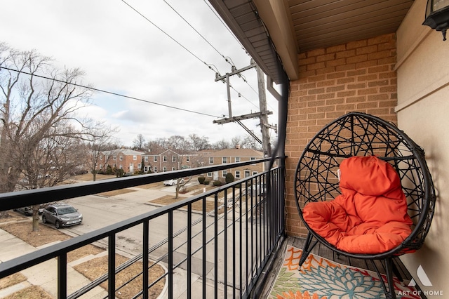
{"label": "black wicker egg chair frame with legs, without its cushion", "polygon": [[[304,221],[302,208],[311,201],[332,200],[340,194],[337,169],[343,159],[371,155],[389,162],[396,169],[414,225],[410,236],[390,251],[378,254],[347,253],[311,230]],[[398,279],[402,278],[393,258],[422,246],[434,215],[435,190],[422,148],[394,124],[370,114],[351,112],[332,121],[311,139],[297,164],[295,189],[297,210],[308,230],[299,267],[312,248],[321,242],[337,255],[371,260],[387,298],[396,298],[393,273]],[[382,261],[387,281],[382,279],[375,260]]]}

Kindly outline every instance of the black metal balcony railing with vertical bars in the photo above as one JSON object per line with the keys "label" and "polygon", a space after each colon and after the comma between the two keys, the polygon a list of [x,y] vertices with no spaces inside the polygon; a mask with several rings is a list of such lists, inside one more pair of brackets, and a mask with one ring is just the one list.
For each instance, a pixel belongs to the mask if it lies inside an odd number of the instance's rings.
{"label": "black metal balcony railing with vertical bars", "polygon": [[[267,161],[269,159],[0,194],[0,211],[250,164],[262,165]],[[283,239],[283,186],[283,168],[273,167],[4,261],[0,263],[0,278],[57,258],[58,298],[78,298],[104,281],[107,281],[105,298],[115,298],[124,285],[138,277],[142,280],[141,288],[133,298],[149,298],[148,290],[161,281],[166,286],[163,298],[250,298],[256,291],[262,270]],[[115,267],[116,239],[126,230],[141,231],[142,248],[140,253]],[[107,273],[68,293],[67,253],[105,240]],[[149,270],[162,265],[165,274],[150,279],[148,271],[141,271],[125,284],[116,285],[116,274],[137,262],[142,263],[142,269]]]}

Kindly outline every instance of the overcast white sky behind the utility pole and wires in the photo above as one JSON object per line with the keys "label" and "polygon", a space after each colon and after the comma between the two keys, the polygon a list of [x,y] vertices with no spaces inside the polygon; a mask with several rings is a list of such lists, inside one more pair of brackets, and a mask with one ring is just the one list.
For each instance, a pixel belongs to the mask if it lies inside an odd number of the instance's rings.
{"label": "overcast white sky behind the utility pole and wires", "polygon": [[[154,140],[196,133],[210,143],[247,135],[238,124],[213,124],[229,113],[226,84],[214,81],[215,69],[231,72],[222,56],[237,69],[250,57],[207,0],[0,0],[0,9],[0,41],[9,46],[79,67],[84,83],[100,90],[199,112],[95,93],[89,114],[119,126],[123,145],[138,134]],[[256,71],[242,74],[248,83],[230,79],[234,116],[259,111]],[[269,93],[267,101],[274,112],[269,122],[276,124],[277,102]],[[243,124],[261,137],[258,119]]]}

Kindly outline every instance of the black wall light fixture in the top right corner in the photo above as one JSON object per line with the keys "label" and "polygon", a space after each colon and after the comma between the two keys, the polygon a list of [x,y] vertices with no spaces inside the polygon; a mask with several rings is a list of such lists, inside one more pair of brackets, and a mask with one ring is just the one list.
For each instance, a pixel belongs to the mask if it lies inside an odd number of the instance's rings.
{"label": "black wall light fixture in the top right corner", "polygon": [[422,25],[441,31],[445,41],[446,30],[449,28],[449,0],[427,0],[426,20]]}

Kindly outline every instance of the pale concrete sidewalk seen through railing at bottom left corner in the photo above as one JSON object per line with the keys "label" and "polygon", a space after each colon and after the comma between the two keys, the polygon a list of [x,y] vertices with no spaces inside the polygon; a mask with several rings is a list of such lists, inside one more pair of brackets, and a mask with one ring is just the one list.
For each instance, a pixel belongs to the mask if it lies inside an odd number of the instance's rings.
{"label": "pale concrete sidewalk seen through railing at bottom left corner", "polygon": [[[35,248],[25,241],[22,241],[18,237],[15,237],[13,234],[5,232],[0,229],[0,244],[2,244],[2,249],[0,251],[0,261],[4,262],[6,260],[11,260],[13,258],[17,258],[18,256],[24,255],[26,253],[30,253],[32,251],[36,251],[39,248],[43,248],[45,246],[50,246],[51,244],[46,244],[43,246],[39,246]],[[76,260],[72,263],[67,264],[67,293],[70,294],[81,286],[85,286],[89,282],[89,279],[84,277],[82,274],[73,269],[75,265],[79,263],[83,263],[86,260],[90,260],[92,258],[98,258],[102,255],[107,254],[107,251],[99,253],[98,255],[89,255],[87,257],[81,258],[80,260]],[[46,262],[43,262],[34,267],[27,268],[20,273],[27,277],[27,281],[23,281],[20,284],[15,284],[14,286],[9,286],[8,288],[4,288],[0,290],[0,298],[5,298],[12,293],[22,290],[23,288],[27,288],[29,286],[41,286],[44,291],[46,291],[53,298],[58,298],[58,261],[53,258]],[[80,298],[105,298],[107,296],[107,291],[105,291],[100,286],[93,288],[88,294],[81,296]]]}

